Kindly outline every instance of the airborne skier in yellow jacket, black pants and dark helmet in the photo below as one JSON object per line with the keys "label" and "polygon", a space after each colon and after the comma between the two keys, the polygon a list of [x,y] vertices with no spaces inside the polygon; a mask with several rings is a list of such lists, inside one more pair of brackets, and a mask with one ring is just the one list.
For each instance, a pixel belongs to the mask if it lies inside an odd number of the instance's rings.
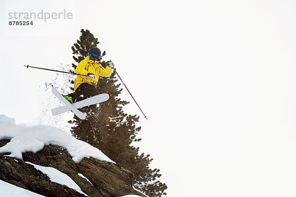
{"label": "airborne skier in yellow jacket, black pants and dark helmet", "polygon": [[74,82],[74,93],[64,96],[70,103],[99,94],[96,88],[99,77],[110,77],[112,69],[114,69],[113,62],[109,62],[108,66],[104,68],[100,64],[100,60],[101,50],[97,47],[93,47],[89,50],[88,56],[79,62],[75,73],[85,76],[78,75]]}

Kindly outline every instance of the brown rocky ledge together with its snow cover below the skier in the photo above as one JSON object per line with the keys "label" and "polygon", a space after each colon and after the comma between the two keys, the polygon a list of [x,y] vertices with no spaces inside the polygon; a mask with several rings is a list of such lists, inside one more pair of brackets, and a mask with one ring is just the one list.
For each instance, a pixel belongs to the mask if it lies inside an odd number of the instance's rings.
{"label": "brown rocky ledge together with its snow cover below the skier", "polygon": [[[146,197],[133,189],[132,172],[97,148],[61,129],[16,124],[4,115],[0,115],[0,180],[2,188],[10,183],[36,197]],[[0,184],[0,197],[4,194]]]}

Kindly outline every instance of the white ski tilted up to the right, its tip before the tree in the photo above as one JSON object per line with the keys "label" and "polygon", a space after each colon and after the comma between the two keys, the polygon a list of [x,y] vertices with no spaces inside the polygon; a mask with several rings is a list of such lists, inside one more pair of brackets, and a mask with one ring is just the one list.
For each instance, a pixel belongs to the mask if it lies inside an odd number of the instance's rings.
{"label": "white ski tilted up to the right, its tip before the tree", "polygon": [[[82,101],[75,102],[72,105],[75,108],[83,108],[86,106],[102,103],[104,101],[107,101],[108,99],[109,99],[109,94],[103,93],[103,94],[99,94],[99,95],[84,99]],[[70,109],[68,108],[68,106],[65,105],[62,107],[52,109],[51,113],[52,113],[52,116],[56,116],[56,115],[59,115],[59,114],[62,114],[62,113],[68,112],[68,111],[70,111]]]}

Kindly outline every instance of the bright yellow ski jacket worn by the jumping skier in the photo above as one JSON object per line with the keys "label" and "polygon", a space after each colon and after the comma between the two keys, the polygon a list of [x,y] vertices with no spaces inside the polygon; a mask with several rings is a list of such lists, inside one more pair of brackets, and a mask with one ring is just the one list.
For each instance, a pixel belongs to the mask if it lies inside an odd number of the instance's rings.
{"label": "bright yellow ski jacket worn by the jumping skier", "polygon": [[81,83],[88,83],[88,84],[97,86],[99,77],[107,77],[107,78],[110,77],[112,74],[112,69],[109,66],[104,68],[98,61],[91,60],[87,56],[84,60],[79,62],[79,64],[75,69],[75,72],[81,75],[87,75],[89,73],[92,73],[96,76],[96,78],[90,79],[88,77],[77,75],[74,82],[74,91],[76,91],[77,87]]}

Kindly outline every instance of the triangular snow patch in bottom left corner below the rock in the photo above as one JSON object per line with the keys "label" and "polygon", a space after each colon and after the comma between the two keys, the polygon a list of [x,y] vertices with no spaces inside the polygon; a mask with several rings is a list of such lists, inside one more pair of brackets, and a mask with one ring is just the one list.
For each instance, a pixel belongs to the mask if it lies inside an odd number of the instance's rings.
{"label": "triangular snow patch in bottom left corner below the rock", "polygon": [[44,197],[0,180],[1,197]]}

